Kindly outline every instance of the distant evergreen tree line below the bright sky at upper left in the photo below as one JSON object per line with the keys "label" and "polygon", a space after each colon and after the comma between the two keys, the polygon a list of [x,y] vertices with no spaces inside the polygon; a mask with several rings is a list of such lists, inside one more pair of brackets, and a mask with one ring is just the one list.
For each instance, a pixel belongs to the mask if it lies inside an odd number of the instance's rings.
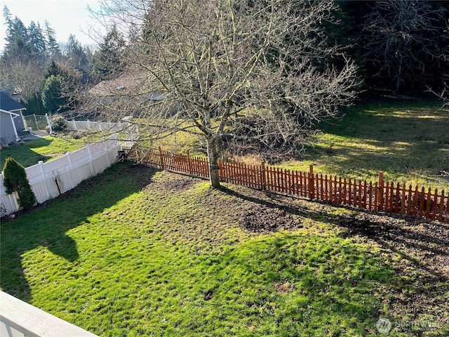
{"label": "distant evergreen tree line below the bright sky at upper left", "polygon": [[[0,88],[20,95],[25,114],[75,110],[80,90],[112,74],[115,65],[106,67],[103,62],[109,62],[115,37],[105,37],[98,49],[81,45],[74,34],[58,42],[47,20],[43,25],[32,21],[27,27],[7,6],[3,16],[6,44],[0,54]],[[113,52],[119,54],[116,49]]]}

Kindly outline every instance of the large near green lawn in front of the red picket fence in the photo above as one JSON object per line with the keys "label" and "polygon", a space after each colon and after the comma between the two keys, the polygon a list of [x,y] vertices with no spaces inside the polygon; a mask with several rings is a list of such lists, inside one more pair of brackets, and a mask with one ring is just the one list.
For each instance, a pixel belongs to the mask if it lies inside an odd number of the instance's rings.
{"label": "large near green lawn in front of the red picket fence", "polygon": [[409,324],[389,336],[448,336],[444,263],[354,234],[356,214],[117,164],[1,225],[1,289],[100,336],[379,336],[380,317]]}

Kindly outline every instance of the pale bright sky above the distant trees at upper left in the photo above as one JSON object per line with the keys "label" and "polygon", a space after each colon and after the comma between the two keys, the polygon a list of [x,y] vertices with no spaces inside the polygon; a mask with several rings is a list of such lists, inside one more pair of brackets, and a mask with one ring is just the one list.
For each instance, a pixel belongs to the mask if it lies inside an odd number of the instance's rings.
{"label": "pale bright sky above the distant trees at upper left", "polygon": [[4,48],[5,41],[4,5],[13,17],[18,16],[27,27],[32,20],[44,27],[43,22],[48,20],[55,29],[58,42],[66,42],[72,33],[83,45],[95,44],[95,34],[89,32],[95,20],[86,8],[98,8],[98,0],[0,0],[0,50]]}

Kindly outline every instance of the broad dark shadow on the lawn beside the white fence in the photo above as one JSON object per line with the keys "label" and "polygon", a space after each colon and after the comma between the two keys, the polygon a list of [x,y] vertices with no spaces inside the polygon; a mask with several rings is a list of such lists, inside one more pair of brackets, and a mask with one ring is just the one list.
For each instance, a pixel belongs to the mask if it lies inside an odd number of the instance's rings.
{"label": "broad dark shadow on the lawn beside the white fence", "polygon": [[116,164],[74,190],[1,224],[1,289],[30,300],[32,289],[22,266],[23,255],[43,246],[73,263],[79,258],[79,251],[67,231],[88,223],[90,216],[142,190],[151,183],[154,172],[145,166]]}

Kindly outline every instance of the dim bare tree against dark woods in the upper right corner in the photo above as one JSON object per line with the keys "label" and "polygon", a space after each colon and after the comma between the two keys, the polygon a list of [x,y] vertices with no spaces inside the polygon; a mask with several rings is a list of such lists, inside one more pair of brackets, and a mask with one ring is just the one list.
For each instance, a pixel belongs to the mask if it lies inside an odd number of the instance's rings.
{"label": "dim bare tree against dark woods in the upper right corner", "polygon": [[443,7],[420,0],[375,1],[366,20],[366,60],[377,77],[391,81],[395,91],[438,78],[448,53]]}

